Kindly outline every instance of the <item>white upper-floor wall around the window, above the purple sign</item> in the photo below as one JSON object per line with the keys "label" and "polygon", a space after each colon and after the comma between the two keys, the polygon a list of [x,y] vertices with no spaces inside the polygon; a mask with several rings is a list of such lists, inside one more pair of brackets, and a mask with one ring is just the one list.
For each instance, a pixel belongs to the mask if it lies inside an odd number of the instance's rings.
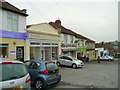
{"label": "white upper-floor wall around the window, above the purple sign", "polygon": [[[0,22],[0,29],[1,30],[8,30],[7,29],[7,14],[8,14],[8,12],[9,11],[0,9],[0,21],[2,21],[2,22]],[[10,13],[12,13],[13,15],[14,14],[18,15],[18,18],[19,18],[18,19],[18,32],[25,32],[25,29],[26,29],[26,17],[23,16],[23,15],[13,13],[13,12],[10,12]],[[8,31],[10,31],[10,30],[8,30]]]}

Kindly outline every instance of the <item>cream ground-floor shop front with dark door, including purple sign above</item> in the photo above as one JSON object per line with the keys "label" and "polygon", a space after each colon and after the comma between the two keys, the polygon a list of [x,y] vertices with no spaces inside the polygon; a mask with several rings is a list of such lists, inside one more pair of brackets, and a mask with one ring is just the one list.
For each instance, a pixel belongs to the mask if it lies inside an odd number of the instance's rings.
{"label": "cream ground-floor shop front with dark door, including purple sign above", "polygon": [[28,33],[0,30],[0,58],[24,61],[27,38]]}

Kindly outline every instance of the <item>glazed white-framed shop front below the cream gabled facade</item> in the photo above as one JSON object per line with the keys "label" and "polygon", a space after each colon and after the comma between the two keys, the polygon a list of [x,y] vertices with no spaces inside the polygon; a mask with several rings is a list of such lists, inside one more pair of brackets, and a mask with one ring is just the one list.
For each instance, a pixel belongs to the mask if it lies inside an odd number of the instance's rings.
{"label": "glazed white-framed shop front below the cream gabled facade", "polygon": [[30,39],[30,59],[57,60],[59,41]]}

